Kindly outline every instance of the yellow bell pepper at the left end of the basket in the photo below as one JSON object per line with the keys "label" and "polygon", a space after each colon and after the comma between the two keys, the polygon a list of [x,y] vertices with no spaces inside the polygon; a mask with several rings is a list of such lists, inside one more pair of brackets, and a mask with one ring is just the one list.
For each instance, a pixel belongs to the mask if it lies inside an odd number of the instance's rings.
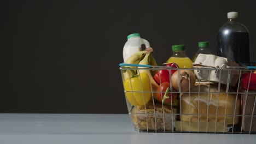
{"label": "yellow bell pepper at the left end of the basket", "polygon": [[149,76],[147,73],[141,73],[140,75],[136,75],[133,70],[131,71],[133,74],[131,79],[128,78],[124,81],[126,98],[132,105],[146,105],[148,101],[152,99],[152,89]]}

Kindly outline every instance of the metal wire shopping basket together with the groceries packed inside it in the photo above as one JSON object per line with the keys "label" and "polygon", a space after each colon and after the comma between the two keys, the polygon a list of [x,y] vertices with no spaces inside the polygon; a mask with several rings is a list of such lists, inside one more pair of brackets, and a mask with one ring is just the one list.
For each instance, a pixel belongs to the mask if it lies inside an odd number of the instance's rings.
{"label": "metal wire shopping basket together with the groceries packed inside it", "polygon": [[[119,65],[127,109],[136,131],[256,134],[256,67],[179,69]],[[174,89],[169,73],[170,91],[162,91],[159,87],[163,83],[158,87],[152,84],[152,71],[159,70],[177,70],[178,74],[191,70],[196,82],[190,86],[188,79],[188,91],[182,91],[178,76],[178,89]],[[168,104],[162,103],[166,94],[171,97]]]}

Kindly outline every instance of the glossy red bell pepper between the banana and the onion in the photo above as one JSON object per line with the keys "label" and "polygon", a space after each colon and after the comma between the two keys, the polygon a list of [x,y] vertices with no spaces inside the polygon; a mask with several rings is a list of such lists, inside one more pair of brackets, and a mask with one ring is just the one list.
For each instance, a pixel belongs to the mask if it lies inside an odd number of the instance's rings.
{"label": "glossy red bell pepper between the banana and the onion", "polygon": [[[176,63],[169,63],[166,65],[167,67],[173,67],[173,68],[179,68]],[[154,75],[154,80],[158,85],[163,82],[170,82],[170,71],[171,71],[171,76],[172,74],[176,71],[177,69],[161,69]]]}

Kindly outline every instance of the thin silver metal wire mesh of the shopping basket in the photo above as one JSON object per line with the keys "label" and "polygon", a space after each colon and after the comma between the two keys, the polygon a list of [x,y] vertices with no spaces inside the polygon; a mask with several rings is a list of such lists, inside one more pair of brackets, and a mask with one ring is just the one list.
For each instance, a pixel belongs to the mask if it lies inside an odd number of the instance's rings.
{"label": "thin silver metal wire mesh of the shopping basket", "polygon": [[[255,109],[255,104],[256,104],[256,92],[255,91],[248,91],[249,89],[249,84],[250,82],[248,82],[248,86],[247,86],[247,89],[245,90],[246,92],[242,92],[241,91],[241,77],[242,77],[242,74],[243,73],[250,73],[249,75],[249,81],[251,80],[251,76],[252,76],[252,73],[253,73],[253,70],[249,70],[249,69],[245,69],[245,68],[223,68],[223,69],[218,69],[218,68],[189,68],[189,69],[185,69],[185,70],[199,70],[199,73],[201,70],[208,70],[209,72],[209,75],[208,75],[208,80],[201,80],[201,79],[196,79],[197,80],[197,83],[198,83],[198,91],[191,91],[191,89],[189,88],[189,91],[188,92],[181,92],[181,80],[180,80],[180,77],[178,77],[178,85],[179,85],[179,89],[178,89],[178,92],[174,91],[174,89],[172,88],[172,79],[171,79],[171,70],[178,70],[178,73],[180,72],[180,70],[182,69],[179,69],[179,68],[158,68],[158,67],[154,67],[154,68],[129,68],[129,67],[120,67],[119,68],[120,71],[121,71],[121,77],[122,77],[122,80],[123,80],[123,83],[125,81],[125,77],[124,77],[124,71],[126,70],[135,70],[135,71],[138,71],[138,75],[140,75],[140,72],[139,70],[140,69],[146,69],[147,70],[147,73],[150,75],[150,71],[151,70],[163,70],[163,69],[166,69],[169,71],[169,75],[170,75],[170,93],[178,93],[178,97],[180,98],[178,103],[178,107],[174,107],[173,106],[173,101],[171,99],[171,112],[172,113],[165,113],[165,105],[164,104],[161,104],[161,109],[162,109],[162,112],[161,113],[156,113],[156,107],[155,107],[155,103],[159,103],[157,100],[154,99],[154,94],[156,93],[161,93],[161,99],[164,97],[164,95],[162,94],[162,91],[161,92],[156,92],[156,91],[150,91],[150,92],[147,92],[147,91],[144,91],[143,89],[143,86],[142,86],[142,80],[140,79],[140,83],[141,83],[141,89],[142,91],[125,91],[125,86],[124,86],[124,93],[125,93],[125,98],[126,98],[126,104],[127,104],[127,109],[129,111],[129,116],[130,116],[130,119],[133,123],[133,127],[135,128],[136,131],[143,131],[143,132],[171,132],[171,133],[228,133],[228,134],[256,134],[256,131],[252,130],[252,125],[255,125],[254,129],[256,129],[256,115],[254,115],[254,109]],[[184,69],[183,69],[184,70]],[[211,85],[208,84],[208,92],[201,92],[201,83],[203,82],[208,82],[208,83],[212,83],[211,81],[211,70],[216,70],[218,71],[218,77],[219,77],[219,81],[216,82],[216,87],[218,89],[218,92],[211,92],[210,89],[211,89]],[[227,72],[228,75],[227,75],[227,81],[226,83],[222,83],[221,80],[222,80],[222,76],[223,76],[223,73]],[[237,87],[232,87],[231,89],[235,89],[236,91],[234,92],[230,92],[230,79],[232,78],[231,77],[231,73],[237,73],[239,76],[238,76],[238,83],[237,83]],[[161,86],[161,75],[159,75],[159,79],[160,79],[160,86]],[[197,78],[197,77],[196,77]],[[131,79],[131,76],[129,75],[129,78],[128,79]],[[150,83],[152,82],[151,79],[149,79]],[[218,85],[217,85],[218,84]],[[130,81],[130,85],[131,85],[131,89],[132,88],[132,82]],[[220,89],[222,89],[222,85],[224,85],[226,87],[225,89],[225,92],[221,92]],[[189,87],[190,87],[190,79],[189,79]],[[150,88],[153,89],[153,86],[150,85]],[[144,111],[143,112],[138,112],[135,105],[132,105],[129,100],[127,100],[127,97],[126,97],[126,93],[132,93],[132,100],[133,100],[133,104],[135,104],[135,95],[134,93],[142,93],[142,96],[143,96],[143,101],[144,101]],[[152,96],[152,103],[153,103],[153,113],[148,113],[147,112],[147,106],[145,105],[146,101],[145,101],[145,95],[144,93],[150,93],[151,96]],[[188,94],[189,95],[189,113],[182,113],[182,109],[183,109],[183,106],[182,106],[182,100],[181,100],[181,97],[180,97],[180,94]],[[191,94],[198,94],[198,101],[197,101],[197,113],[194,114],[194,113],[191,113]],[[207,94],[207,112],[206,113],[200,113],[200,95],[202,94]],[[212,113],[209,113],[209,105],[210,105],[210,94],[216,94],[216,97],[217,97],[217,104],[216,104],[216,113],[215,114],[212,114]],[[226,98],[225,98],[225,104],[228,103],[228,97],[233,97],[233,95],[231,94],[234,94],[235,95],[235,108],[234,108],[234,113],[232,114],[228,114],[227,113],[227,105],[225,105],[225,112],[224,114],[218,114],[218,107],[219,107],[219,96],[220,94],[226,94]],[[252,113],[251,114],[246,114],[245,111],[247,109],[246,105],[247,105],[247,97],[248,97],[248,94],[250,94],[249,97],[254,97],[254,101],[249,101],[250,103],[253,103],[253,107],[252,107]],[[245,105],[242,105],[242,96],[245,96]],[[212,96],[211,96],[212,97]],[[240,101],[238,101],[238,98],[240,98]],[[237,102],[239,102],[241,104],[241,109],[240,109],[240,114],[237,115],[236,114],[236,109],[237,109]],[[134,109],[134,110],[133,110]],[[177,113],[173,113],[173,110],[174,109],[177,109]],[[146,121],[146,124],[147,124],[147,128],[146,129],[140,129],[139,127],[139,117],[140,116],[145,116],[145,121]],[[135,121],[133,121],[133,117],[136,117],[135,118]],[[151,118],[151,116],[153,116],[154,118],[154,129],[155,130],[149,130],[149,117]],[[157,123],[157,118],[158,117],[162,117],[162,125],[163,125],[163,130],[158,130],[158,124]],[[170,121],[165,121],[166,118],[165,117],[170,117],[171,116],[171,122]],[[182,116],[188,116],[189,117],[189,122],[188,122],[188,125],[189,125],[189,130],[183,130],[183,120],[182,120]],[[191,117],[193,116],[197,116],[197,122],[193,122],[193,124],[197,123],[197,130],[191,130]],[[200,124],[202,124],[202,122],[200,122],[200,117],[202,116],[206,116],[206,130],[203,130],[201,131],[200,130]],[[208,125],[210,122],[208,121],[208,117],[210,116],[215,116],[215,122],[214,125],[213,125],[213,131],[209,131],[208,130],[208,127],[210,125]],[[223,131],[220,131],[220,130],[217,130],[217,125],[219,124],[218,123],[218,117],[220,116],[224,116],[224,122],[222,123],[223,124]],[[232,117],[232,123],[231,124],[226,124],[226,117]],[[240,122],[238,124],[235,124],[235,118],[240,119]],[[250,121],[251,123],[249,124],[249,130],[243,130],[243,126],[244,126],[244,123],[245,123],[245,118],[250,118]],[[179,130],[177,130],[177,122],[180,122],[180,127],[179,127]],[[166,124],[170,124],[171,123],[171,130],[166,130]],[[212,124],[212,123],[211,123]]]}

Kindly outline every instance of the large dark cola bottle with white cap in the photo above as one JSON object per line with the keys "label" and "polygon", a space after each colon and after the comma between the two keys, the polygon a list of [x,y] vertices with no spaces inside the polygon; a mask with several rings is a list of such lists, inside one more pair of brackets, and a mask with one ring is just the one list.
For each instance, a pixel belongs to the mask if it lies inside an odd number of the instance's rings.
{"label": "large dark cola bottle with white cap", "polygon": [[228,22],[219,28],[217,55],[245,66],[250,63],[249,32],[237,17],[236,12],[228,13]]}

